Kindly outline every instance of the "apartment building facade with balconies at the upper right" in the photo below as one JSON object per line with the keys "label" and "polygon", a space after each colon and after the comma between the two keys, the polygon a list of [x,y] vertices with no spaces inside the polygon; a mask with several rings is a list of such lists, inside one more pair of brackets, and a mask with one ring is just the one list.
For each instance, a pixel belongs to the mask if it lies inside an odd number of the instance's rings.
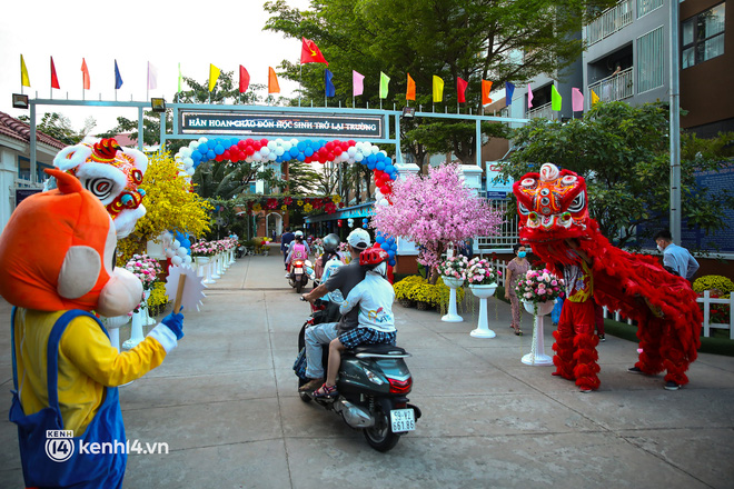
{"label": "apartment building facade with balconies at the upper right", "polygon": [[[546,119],[581,117],[572,111],[572,88],[584,94],[584,111],[592,91],[604,101],[633,106],[669,100],[671,1],[622,0],[585,26],[586,50],[563,72],[537,77],[515,91],[512,116]],[[700,137],[734,131],[734,12],[725,0],[680,2],[681,107],[688,113],[682,128]],[[727,33],[728,31],[728,33]],[[550,86],[563,97],[563,110],[550,110]]]}

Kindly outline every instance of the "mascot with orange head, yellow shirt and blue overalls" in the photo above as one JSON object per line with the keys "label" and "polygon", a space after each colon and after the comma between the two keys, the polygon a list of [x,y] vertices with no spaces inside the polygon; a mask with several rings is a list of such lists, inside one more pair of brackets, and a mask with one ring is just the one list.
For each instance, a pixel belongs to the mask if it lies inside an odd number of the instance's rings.
{"label": "mascot with orange head, yellow shirt and blue overalls", "polygon": [[142,285],[115,268],[105,206],[73,176],[46,171],[58,188],[21,202],[0,234],[0,296],[16,307],[10,420],[23,478],[27,487],[119,488],[127,453],[117,386],[163,361],[184,337],[184,316],[169,315],[130,351],[110,345],[90,311],[131,311]]}

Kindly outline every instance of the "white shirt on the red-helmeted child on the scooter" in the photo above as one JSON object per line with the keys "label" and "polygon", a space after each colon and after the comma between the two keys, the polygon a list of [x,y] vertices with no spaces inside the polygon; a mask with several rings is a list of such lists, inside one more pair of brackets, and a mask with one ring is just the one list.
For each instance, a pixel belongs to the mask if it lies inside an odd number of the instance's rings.
{"label": "white shirt on the red-helmeted child on the scooter", "polygon": [[349,312],[359,305],[358,327],[373,328],[377,331],[395,331],[395,316],[393,316],[393,301],[395,291],[393,286],[381,276],[367,272],[365,280],[357,283],[341,302],[339,312]]}

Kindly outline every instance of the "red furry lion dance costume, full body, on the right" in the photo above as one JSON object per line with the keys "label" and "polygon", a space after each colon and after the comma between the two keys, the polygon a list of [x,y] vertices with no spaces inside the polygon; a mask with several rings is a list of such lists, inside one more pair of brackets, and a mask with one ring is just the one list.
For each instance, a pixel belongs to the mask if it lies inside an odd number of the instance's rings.
{"label": "red furry lion dance costume, full body, on the right", "polygon": [[[545,163],[539,173],[516,181],[513,192],[520,241],[559,276],[587,258],[594,299],[637,321],[642,353],[635,367],[647,375],[666,370],[669,390],[688,383],[685,372],[697,357],[702,326],[688,282],[666,271],[654,257],[612,246],[589,218],[586,182],[573,171]],[[582,390],[598,388],[598,338],[593,330],[575,337],[554,331],[554,375],[576,380]]]}

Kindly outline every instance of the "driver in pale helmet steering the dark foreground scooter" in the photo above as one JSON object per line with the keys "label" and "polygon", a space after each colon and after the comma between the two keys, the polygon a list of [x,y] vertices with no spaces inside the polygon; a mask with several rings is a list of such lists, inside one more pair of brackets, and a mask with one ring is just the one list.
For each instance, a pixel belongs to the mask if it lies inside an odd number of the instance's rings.
{"label": "driver in pale helmet steering the dark foreground scooter", "polygon": [[[343,296],[348,296],[351,289],[365,279],[365,269],[359,265],[359,253],[370,246],[371,239],[367,231],[364,229],[351,231],[347,237],[347,249],[351,255],[351,262],[336,268],[328,280],[301,297],[309,302],[314,302],[316,299],[320,299],[337,289],[341,291]],[[324,383],[323,348],[337,338],[338,335],[356,328],[358,315],[359,309],[351,309],[341,316],[338,322],[325,322],[306,330],[306,376],[311,380],[301,386],[299,390],[313,391]]]}

